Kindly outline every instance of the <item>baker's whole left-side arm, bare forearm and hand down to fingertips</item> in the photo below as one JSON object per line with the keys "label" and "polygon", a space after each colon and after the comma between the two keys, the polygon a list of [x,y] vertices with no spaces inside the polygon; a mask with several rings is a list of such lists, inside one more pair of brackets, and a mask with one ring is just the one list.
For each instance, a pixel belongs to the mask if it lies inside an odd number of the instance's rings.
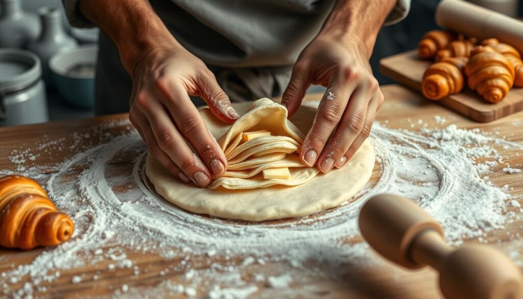
{"label": "baker's whole left-side arm, bare forearm and hand down to fingertips", "polygon": [[132,76],[129,119],[149,152],[184,182],[205,187],[223,174],[224,153],[189,95],[200,96],[226,123],[239,115],[206,65],[178,43],[147,1],[80,0],[78,7],[115,43]]}

